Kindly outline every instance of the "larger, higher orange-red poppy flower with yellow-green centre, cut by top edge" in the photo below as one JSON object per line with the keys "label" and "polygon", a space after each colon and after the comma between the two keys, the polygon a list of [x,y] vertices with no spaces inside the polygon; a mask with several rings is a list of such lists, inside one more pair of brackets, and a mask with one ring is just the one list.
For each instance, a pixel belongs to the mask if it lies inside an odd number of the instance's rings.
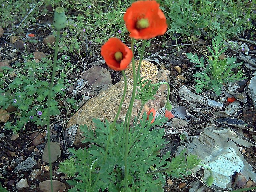
{"label": "larger, higher orange-red poppy flower with yellow-green centre, cut by top edge", "polygon": [[136,1],[124,14],[124,22],[134,39],[150,39],[164,35],[166,18],[156,1]]}

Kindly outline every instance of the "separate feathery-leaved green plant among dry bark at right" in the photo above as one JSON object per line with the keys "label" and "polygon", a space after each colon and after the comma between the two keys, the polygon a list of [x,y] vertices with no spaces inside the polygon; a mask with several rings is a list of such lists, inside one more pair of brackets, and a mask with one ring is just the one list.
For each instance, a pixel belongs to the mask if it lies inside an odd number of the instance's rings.
{"label": "separate feathery-leaved green plant among dry bark at right", "polygon": [[[207,64],[204,66],[205,60],[203,57],[198,58],[197,54],[187,53],[190,62],[196,63],[196,67],[202,68],[202,72],[196,72],[194,77],[196,81],[196,92],[202,92],[203,88],[212,89],[217,95],[220,95],[223,84],[228,82],[239,81],[245,79],[240,66],[242,63],[235,63],[235,57],[227,57],[223,60],[219,59],[219,56],[224,53],[227,48],[221,49],[223,41],[220,36],[216,36],[212,39],[212,48],[207,46],[207,49],[211,53],[211,57],[206,59]],[[236,74],[232,69],[238,69]]]}

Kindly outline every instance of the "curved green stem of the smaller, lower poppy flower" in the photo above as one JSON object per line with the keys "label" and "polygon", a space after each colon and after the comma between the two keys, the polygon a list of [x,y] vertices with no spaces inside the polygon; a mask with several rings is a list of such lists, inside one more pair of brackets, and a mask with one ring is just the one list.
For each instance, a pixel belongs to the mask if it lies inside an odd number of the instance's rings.
{"label": "curved green stem of the smaller, lower poppy flower", "polygon": [[[119,113],[121,111],[121,108],[122,108],[122,104],[124,102],[124,98],[125,98],[125,94],[126,94],[126,90],[127,90],[127,78],[126,78],[126,75],[124,73],[124,71],[122,71],[122,74],[124,76],[124,93],[123,93],[123,97],[121,99],[121,102],[120,102],[120,105],[119,105],[119,108],[118,108],[118,111],[117,111],[117,114],[116,114],[116,117],[113,121],[113,123],[111,124],[111,127],[110,127],[110,133],[108,135],[108,141],[107,141],[107,146],[106,146],[106,152],[105,152],[105,155],[104,155],[104,159],[103,159],[103,164],[105,163],[106,159],[107,159],[107,154],[108,154],[108,147],[109,147],[109,143],[110,143],[110,140],[111,140],[111,136],[112,136],[112,132],[113,132],[113,129],[114,129],[114,126],[116,124],[116,120],[119,116]],[[92,186],[92,191],[94,191],[94,188],[96,187],[96,184],[99,180],[99,177],[100,177],[100,173],[97,175],[97,178]]]}

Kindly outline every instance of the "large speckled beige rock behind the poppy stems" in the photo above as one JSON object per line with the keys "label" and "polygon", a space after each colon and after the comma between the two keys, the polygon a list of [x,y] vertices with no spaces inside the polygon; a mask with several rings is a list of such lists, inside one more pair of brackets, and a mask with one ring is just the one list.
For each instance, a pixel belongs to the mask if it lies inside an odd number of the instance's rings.
{"label": "large speckled beige rock behind the poppy stems", "polygon": [[[136,68],[138,66],[139,61],[136,61]],[[127,76],[127,92],[126,96],[122,105],[121,112],[118,116],[119,119],[123,120],[125,119],[125,115],[130,103],[131,95],[132,95],[132,87],[133,87],[133,76],[132,76],[132,66],[129,65],[129,68],[125,70],[125,74]],[[140,74],[141,76],[151,79],[152,83],[157,83],[159,80],[157,78],[158,69],[155,64],[150,63],[149,61],[142,61],[142,65],[140,68]],[[101,92],[96,97],[91,98],[88,100],[68,121],[67,128],[78,124],[78,127],[80,125],[86,124],[88,127],[91,126],[92,129],[95,128],[93,125],[92,119],[93,118],[99,118],[101,121],[104,121],[107,119],[109,122],[113,121],[118,107],[119,103],[121,101],[122,95],[124,92],[124,78],[121,78],[121,80],[105,90],[104,92]],[[155,108],[155,110],[160,109],[160,97],[161,92],[160,90],[157,92],[155,96],[155,100],[149,100],[146,105],[144,106],[142,113],[140,117],[142,117],[142,114],[144,111],[148,112],[150,109]],[[140,100],[135,100],[133,104],[133,110],[132,110],[132,119],[134,119],[134,116],[138,115],[139,109],[141,106]],[[80,131],[80,129],[77,129],[77,134],[75,137],[74,145],[81,144],[81,141],[84,140],[84,135]]]}

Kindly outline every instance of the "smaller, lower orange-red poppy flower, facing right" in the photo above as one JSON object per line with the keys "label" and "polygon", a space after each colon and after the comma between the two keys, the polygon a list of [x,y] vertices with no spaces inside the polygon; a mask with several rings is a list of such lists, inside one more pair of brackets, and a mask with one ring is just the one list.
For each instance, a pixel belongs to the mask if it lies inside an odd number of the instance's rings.
{"label": "smaller, lower orange-red poppy flower, facing right", "polygon": [[110,38],[102,47],[101,55],[108,67],[116,71],[127,68],[132,60],[132,51],[118,38]]}

